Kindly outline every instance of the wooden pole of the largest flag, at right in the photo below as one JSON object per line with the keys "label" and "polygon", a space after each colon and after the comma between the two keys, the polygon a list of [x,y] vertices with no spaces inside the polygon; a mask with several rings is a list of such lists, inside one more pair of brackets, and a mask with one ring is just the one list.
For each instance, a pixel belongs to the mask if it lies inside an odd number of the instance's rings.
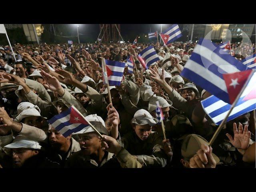
{"label": "wooden pole of the largest flag, at right", "polygon": [[252,75],[254,74],[254,70],[252,70],[251,74],[248,76],[244,86],[242,87],[241,91],[239,92],[239,94],[236,97],[236,100],[234,100],[233,104],[230,107],[230,110],[228,111],[228,114],[226,115],[226,117],[222,120],[221,124],[219,125],[218,129],[216,130],[216,132],[214,133],[214,135],[212,136],[212,139],[209,142],[209,146],[212,146],[213,142],[216,140],[218,134],[220,133],[220,131],[222,130],[223,125],[226,123],[226,120],[228,119],[228,116],[230,115],[230,113],[232,112],[232,110],[234,109],[234,107],[236,106],[240,96],[242,95],[242,93],[244,92],[248,82],[250,81]]}

